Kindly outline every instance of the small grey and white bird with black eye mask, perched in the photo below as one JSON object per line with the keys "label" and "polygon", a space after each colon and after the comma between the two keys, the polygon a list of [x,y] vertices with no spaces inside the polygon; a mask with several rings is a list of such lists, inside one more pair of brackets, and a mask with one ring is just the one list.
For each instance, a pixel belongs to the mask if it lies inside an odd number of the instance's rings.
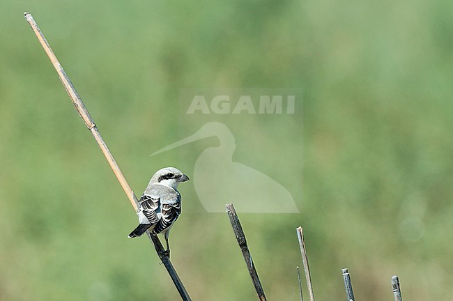
{"label": "small grey and white bird with black eye mask, perched", "polygon": [[151,234],[164,234],[167,254],[170,254],[169,233],[176,219],[181,214],[181,194],[179,183],[189,177],[174,167],[158,170],[148,183],[139,201],[139,225],[129,234],[129,238],[141,236],[146,230]]}

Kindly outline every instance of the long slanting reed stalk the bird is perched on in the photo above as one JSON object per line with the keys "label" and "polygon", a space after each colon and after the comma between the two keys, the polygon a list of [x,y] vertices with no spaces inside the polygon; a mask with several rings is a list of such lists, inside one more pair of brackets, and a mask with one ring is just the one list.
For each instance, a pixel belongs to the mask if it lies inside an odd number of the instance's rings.
{"label": "long slanting reed stalk the bird is perched on", "polygon": [[[70,99],[72,100],[72,103],[75,105],[75,108],[79,112],[80,117],[84,121],[86,127],[90,130],[91,134],[93,134],[94,139],[96,142],[98,142],[98,145],[102,151],[102,153],[105,155],[105,158],[107,159],[107,162],[109,162],[110,167],[112,168],[113,172],[115,173],[116,178],[118,179],[121,187],[123,187],[123,190],[125,194],[128,196],[128,199],[132,205],[132,207],[135,209],[137,212],[138,207],[139,207],[139,201],[137,199],[137,196],[135,196],[134,192],[130,188],[130,185],[128,184],[128,181],[125,179],[123,176],[123,173],[121,173],[121,169],[118,167],[118,164],[116,164],[116,161],[110,153],[109,148],[107,147],[107,144],[105,144],[104,139],[102,139],[102,136],[100,135],[100,132],[98,130],[98,127],[95,125],[93,118],[91,117],[88,109],[86,109],[84,102],[82,102],[82,99],[79,97],[79,94],[75,90],[74,85],[72,84],[70,78],[66,74],[65,70],[63,70],[63,67],[61,66],[60,62],[58,59],[56,59],[56,56],[54,52],[52,51],[52,48],[50,47],[49,43],[47,43],[46,38],[44,37],[43,33],[41,32],[38,24],[36,21],[33,19],[33,16],[31,13],[24,13],[26,21],[30,24],[31,29],[33,29],[33,32],[36,35],[36,38],[38,38],[40,44],[43,46],[45,53],[49,57],[50,61],[52,61],[52,65],[54,65],[54,68],[56,72],[59,75],[59,78],[61,80],[61,83],[66,89],[66,92],[68,92],[68,95]],[[165,268],[167,268],[167,271],[169,272],[169,275],[171,279],[173,280],[176,288],[178,289],[178,292],[181,295],[181,298],[183,300],[190,301],[190,296],[185,290],[185,287],[181,281],[181,279],[178,277],[178,274],[176,273],[176,270],[174,269],[173,265],[171,264],[169,256],[164,252],[164,247],[162,247],[162,243],[160,242],[159,238],[157,236],[151,235],[148,231],[148,238],[153,242],[155,251],[158,253],[158,256],[162,263],[165,265]]]}

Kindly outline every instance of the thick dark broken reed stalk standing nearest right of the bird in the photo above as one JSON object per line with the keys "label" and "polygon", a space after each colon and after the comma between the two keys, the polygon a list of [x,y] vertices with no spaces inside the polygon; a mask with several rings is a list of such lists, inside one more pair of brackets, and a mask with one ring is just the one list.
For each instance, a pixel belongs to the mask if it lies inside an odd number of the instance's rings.
{"label": "thick dark broken reed stalk standing nearest right of the bird", "polygon": [[263,286],[259,281],[258,273],[256,272],[255,265],[252,260],[252,255],[250,255],[249,247],[247,246],[247,240],[245,240],[245,234],[243,227],[240,225],[238,215],[232,203],[225,205],[227,207],[227,213],[233,227],[234,235],[236,240],[238,240],[238,245],[240,250],[243,252],[245,263],[247,264],[247,269],[249,270],[250,277],[252,278],[253,285],[255,287],[256,293],[260,301],[266,301],[266,295],[264,295]]}

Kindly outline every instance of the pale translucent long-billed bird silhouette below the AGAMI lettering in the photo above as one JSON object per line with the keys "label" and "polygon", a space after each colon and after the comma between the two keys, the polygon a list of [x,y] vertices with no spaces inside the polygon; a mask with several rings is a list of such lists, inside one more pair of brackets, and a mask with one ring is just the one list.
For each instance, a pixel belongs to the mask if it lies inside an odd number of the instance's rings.
{"label": "pale translucent long-billed bird silhouette below the AGAMI lettering", "polygon": [[152,155],[217,137],[219,146],[206,148],[197,158],[192,173],[201,205],[210,213],[223,213],[234,202],[243,213],[299,213],[291,193],[270,176],[245,164],[233,162],[236,139],[224,123],[209,122],[197,132],[170,144]]}

